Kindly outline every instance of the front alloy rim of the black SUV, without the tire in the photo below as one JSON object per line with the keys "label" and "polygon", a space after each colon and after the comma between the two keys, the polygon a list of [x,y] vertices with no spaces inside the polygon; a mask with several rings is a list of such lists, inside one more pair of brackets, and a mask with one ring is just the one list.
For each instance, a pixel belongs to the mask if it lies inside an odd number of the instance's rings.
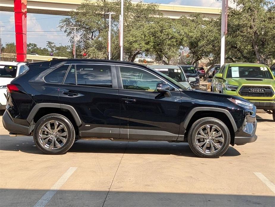
{"label": "front alloy rim of the black SUV, without the tire", "polygon": [[218,152],[224,144],[224,134],[219,126],[206,124],[195,135],[197,148],[205,154]]}

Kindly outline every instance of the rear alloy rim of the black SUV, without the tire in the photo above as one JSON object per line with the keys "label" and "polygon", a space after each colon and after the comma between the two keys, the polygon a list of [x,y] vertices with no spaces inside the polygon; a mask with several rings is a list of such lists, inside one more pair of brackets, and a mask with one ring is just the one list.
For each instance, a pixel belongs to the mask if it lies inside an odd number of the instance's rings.
{"label": "rear alloy rim of the black SUV, without the tire", "polygon": [[51,120],[44,123],[39,130],[39,143],[45,149],[59,149],[68,138],[66,126],[60,121]]}

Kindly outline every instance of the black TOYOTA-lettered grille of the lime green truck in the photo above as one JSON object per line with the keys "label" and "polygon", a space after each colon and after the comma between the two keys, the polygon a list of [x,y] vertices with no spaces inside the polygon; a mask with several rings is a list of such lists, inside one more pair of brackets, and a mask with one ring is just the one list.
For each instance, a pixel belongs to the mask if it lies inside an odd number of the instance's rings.
{"label": "black TOYOTA-lettered grille of the lime green truck", "polygon": [[[263,90],[257,90],[257,89],[263,89]],[[241,96],[272,97],[274,95],[274,91],[271,88],[271,86],[242,86],[241,89],[239,90],[239,94]]]}

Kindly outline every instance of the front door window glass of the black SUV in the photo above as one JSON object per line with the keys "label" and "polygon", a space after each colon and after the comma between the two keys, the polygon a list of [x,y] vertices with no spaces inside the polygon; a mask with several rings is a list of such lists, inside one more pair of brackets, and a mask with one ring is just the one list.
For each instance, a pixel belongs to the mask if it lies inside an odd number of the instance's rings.
{"label": "front door window glass of the black SUV", "polygon": [[164,82],[147,71],[133,67],[120,67],[120,75],[123,89],[154,92],[157,84]]}

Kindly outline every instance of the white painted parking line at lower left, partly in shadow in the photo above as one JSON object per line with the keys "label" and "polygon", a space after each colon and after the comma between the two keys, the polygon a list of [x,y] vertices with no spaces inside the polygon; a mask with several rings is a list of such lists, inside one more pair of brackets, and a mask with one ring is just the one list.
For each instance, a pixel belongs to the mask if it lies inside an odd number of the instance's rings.
{"label": "white painted parking line at lower left, partly in shadow", "polygon": [[48,190],[40,200],[34,205],[34,207],[44,207],[54,196],[54,194],[64,185],[68,178],[75,172],[77,167],[70,167],[67,172],[65,172],[59,180],[54,183],[50,190]]}

